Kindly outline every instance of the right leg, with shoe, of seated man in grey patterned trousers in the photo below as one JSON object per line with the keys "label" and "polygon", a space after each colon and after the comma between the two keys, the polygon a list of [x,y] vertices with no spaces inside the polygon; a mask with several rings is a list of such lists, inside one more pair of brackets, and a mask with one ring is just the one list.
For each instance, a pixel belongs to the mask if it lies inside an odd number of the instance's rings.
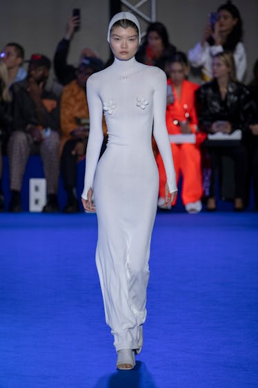
{"label": "right leg, with shoe, of seated man in grey patterned trousers", "polygon": [[59,180],[59,133],[51,131],[40,145],[40,154],[47,183],[48,202],[43,212],[58,212],[57,190]]}

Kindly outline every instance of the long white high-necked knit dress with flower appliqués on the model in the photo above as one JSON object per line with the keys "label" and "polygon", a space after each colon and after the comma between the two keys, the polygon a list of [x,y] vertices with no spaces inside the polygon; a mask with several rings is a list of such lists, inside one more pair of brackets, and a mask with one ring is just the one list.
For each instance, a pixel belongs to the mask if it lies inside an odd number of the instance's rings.
{"label": "long white high-necked knit dress with flower appliqu\u00e9s on the model", "polygon": [[[142,347],[146,320],[150,237],[157,211],[159,174],[153,134],[170,192],[177,190],[166,129],[166,75],[136,62],[115,62],[87,82],[90,136],[82,197],[93,187],[98,219],[96,263],[106,322],[115,348]],[[103,111],[108,146],[99,160]],[[99,160],[99,161],[98,161]]]}

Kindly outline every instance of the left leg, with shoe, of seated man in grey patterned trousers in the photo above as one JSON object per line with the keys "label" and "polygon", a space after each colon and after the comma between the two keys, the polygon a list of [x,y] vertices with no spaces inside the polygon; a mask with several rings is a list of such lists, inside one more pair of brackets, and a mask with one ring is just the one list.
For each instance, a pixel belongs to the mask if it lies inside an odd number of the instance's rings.
{"label": "left leg, with shoe, of seated man in grey patterned trousers", "polygon": [[21,212],[21,185],[31,146],[32,138],[29,133],[14,131],[10,136],[8,142],[10,190],[12,192],[10,212]]}

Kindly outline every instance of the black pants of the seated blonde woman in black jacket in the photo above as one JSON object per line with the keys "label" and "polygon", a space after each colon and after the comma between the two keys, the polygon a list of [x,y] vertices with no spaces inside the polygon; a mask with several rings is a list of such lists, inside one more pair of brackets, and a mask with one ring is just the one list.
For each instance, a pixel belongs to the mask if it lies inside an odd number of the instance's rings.
{"label": "black pants of the seated blonde woman in black jacket", "polygon": [[235,174],[235,198],[246,197],[246,185],[248,174],[248,154],[246,147],[243,145],[236,145],[232,147],[210,147],[208,148],[210,154],[210,192],[209,197],[214,198],[216,193],[216,176],[217,171],[221,167],[221,158],[229,156],[234,161]]}

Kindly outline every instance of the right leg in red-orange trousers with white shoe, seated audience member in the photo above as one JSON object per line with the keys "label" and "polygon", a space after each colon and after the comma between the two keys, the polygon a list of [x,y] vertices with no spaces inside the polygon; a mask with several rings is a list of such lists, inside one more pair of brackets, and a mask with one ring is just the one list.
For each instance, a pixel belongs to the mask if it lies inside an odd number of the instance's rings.
{"label": "right leg in red-orange trousers with white shoe, seated audience member", "polygon": [[185,143],[181,145],[179,165],[183,176],[182,201],[188,212],[201,211],[202,174],[199,147]]}

